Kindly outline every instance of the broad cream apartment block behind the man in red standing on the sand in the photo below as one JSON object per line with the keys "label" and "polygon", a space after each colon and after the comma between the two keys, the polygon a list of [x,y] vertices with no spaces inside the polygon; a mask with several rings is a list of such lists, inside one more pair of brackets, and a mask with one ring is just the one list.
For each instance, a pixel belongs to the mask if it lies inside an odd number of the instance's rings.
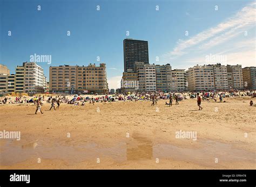
{"label": "broad cream apartment block behind the man in red standing on the sand", "polygon": [[188,90],[214,90],[213,66],[194,66],[186,71]]}

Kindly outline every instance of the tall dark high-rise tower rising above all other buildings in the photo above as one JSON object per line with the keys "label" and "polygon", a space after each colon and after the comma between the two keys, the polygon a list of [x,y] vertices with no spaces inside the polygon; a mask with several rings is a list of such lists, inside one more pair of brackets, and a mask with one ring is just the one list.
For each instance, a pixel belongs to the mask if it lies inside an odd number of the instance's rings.
{"label": "tall dark high-rise tower rising above all other buildings", "polygon": [[147,41],[124,39],[124,71],[135,70],[135,62],[149,64],[149,47]]}

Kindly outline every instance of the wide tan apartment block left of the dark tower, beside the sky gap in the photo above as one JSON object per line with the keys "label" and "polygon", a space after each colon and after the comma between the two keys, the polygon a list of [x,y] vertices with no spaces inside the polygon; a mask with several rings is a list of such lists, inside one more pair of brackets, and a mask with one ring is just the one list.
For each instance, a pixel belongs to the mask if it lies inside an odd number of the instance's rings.
{"label": "wide tan apartment block left of the dark tower, beside the sky gap", "polygon": [[89,66],[50,67],[50,92],[102,93],[109,91],[106,79],[106,64]]}

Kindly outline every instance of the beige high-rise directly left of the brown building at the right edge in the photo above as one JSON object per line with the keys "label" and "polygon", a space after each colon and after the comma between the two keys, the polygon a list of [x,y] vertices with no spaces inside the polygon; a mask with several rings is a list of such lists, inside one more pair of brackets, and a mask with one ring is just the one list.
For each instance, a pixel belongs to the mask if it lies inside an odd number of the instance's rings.
{"label": "beige high-rise directly left of the brown building at the right edge", "polygon": [[242,78],[242,66],[227,65],[227,76],[229,89],[243,89],[244,81]]}

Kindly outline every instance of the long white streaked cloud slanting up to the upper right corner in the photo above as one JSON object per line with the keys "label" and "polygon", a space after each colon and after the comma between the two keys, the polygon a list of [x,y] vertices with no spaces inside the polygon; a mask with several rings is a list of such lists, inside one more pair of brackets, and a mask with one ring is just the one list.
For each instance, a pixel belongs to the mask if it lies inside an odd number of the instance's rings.
{"label": "long white streaked cloud slanting up to the upper right corner", "polygon": [[202,31],[188,40],[179,40],[171,52],[164,54],[164,59],[166,61],[176,59],[191,51],[198,51],[198,49],[205,51],[236,37],[246,29],[255,27],[255,5],[256,2],[252,2],[242,8],[234,17],[226,19],[217,26]]}

